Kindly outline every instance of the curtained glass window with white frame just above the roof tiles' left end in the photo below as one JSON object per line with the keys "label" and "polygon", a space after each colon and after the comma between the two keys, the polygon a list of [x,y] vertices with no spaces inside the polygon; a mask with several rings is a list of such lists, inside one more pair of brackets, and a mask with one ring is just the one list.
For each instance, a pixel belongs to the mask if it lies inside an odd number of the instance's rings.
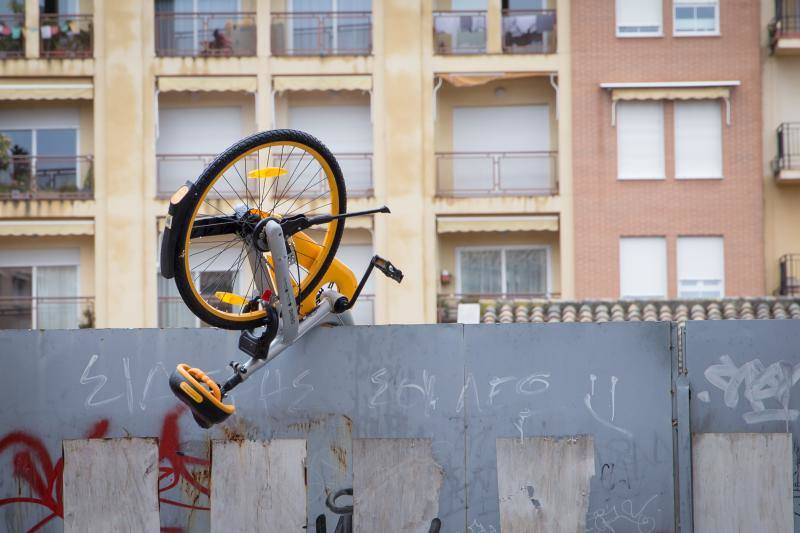
{"label": "curtained glass window with white frame just above the roof tiles' left end", "polygon": [[545,295],[549,292],[549,248],[460,248],[461,294]]}

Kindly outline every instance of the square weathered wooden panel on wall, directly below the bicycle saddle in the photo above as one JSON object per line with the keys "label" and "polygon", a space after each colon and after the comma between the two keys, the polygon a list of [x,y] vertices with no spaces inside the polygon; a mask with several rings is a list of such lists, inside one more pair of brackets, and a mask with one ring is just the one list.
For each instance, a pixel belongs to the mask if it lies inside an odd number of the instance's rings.
{"label": "square weathered wooden panel on wall, directly below the bicycle saddle", "polygon": [[211,531],[304,531],[306,441],[215,440]]}

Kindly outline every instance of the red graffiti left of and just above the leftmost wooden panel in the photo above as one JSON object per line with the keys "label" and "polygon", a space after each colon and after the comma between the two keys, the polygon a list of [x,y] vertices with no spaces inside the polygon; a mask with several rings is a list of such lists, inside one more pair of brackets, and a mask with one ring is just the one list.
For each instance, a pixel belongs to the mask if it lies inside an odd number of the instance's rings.
{"label": "red graffiti left of and just above the leftmost wooden panel", "polygon": [[[100,420],[92,426],[86,437],[90,439],[103,437],[108,431],[108,425],[107,419]],[[9,433],[0,440],[0,453],[12,446],[22,447],[12,459],[14,477],[25,481],[35,496],[0,499],[0,506],[9,503],[36,503],[47,507],[50,514],[28,530],[36,531],[53,518],[64,516],[64,502],[61,499],[64,458],[60,458],[53,465],[44,443],[39,438],[22,431]]]}

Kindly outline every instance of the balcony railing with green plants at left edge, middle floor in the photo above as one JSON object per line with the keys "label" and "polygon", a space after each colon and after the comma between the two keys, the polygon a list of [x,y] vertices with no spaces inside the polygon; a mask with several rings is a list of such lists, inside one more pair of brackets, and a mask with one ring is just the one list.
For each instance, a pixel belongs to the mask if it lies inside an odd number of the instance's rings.
{"label": "balcony railing with green plants at left edge, middle floor", "polygon": [[2,199],[86,200],[93,194],[92,156],[16,155],[5,162],[0,159]]}

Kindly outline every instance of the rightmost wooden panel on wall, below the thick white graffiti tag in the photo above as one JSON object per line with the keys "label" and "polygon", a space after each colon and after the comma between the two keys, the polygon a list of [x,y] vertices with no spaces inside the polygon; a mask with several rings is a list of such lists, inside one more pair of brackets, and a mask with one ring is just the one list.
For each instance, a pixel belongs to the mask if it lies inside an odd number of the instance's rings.
{"label": "rightmost wooden panel on wall, below the thick white graffiti tag", "polygon": [[694,530],[792,531],[791,433],[692,438]]}

